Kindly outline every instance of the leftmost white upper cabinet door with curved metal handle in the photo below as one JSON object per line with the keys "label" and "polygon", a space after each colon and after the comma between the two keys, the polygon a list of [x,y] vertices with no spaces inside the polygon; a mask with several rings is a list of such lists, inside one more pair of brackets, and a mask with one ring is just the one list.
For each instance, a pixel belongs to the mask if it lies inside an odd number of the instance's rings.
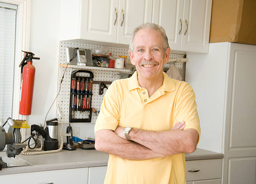
{"label": "leftmost white upper cabinet door with curved metal handle", "polygon": [[79,37],[116,42],[118,0],[80,0]]}

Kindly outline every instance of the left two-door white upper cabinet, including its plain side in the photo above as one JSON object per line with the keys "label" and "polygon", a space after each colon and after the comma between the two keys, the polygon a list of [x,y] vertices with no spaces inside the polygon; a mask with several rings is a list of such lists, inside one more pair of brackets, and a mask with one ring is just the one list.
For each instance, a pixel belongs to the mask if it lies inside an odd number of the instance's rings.
{"label": "left two-door white upper cabinet, including its plain side", "polygon": [[61,0],[59,39],[129,44],[151,16],[152,0]]}

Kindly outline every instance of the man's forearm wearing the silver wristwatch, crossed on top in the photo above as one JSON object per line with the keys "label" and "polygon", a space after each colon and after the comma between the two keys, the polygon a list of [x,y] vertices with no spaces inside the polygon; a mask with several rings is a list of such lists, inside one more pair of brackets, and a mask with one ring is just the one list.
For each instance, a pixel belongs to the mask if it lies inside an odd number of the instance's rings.
{"label": "man's forearm wearing the silver wristwatch, crossed on top", "polygon": [[198,133],[194,129],[148,131],[133,128],[131,140],[165,156],[195,151]]}

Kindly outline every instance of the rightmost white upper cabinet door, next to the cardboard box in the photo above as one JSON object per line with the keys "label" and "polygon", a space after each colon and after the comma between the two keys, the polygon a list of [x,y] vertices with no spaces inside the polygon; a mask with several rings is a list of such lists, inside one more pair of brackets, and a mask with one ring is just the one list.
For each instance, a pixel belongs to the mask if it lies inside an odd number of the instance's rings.
{"label": "rightmost white upper cabinet door, next to the cardboard box", "polygon": [[212,0],[184,0],[182,51],[208,53]]}

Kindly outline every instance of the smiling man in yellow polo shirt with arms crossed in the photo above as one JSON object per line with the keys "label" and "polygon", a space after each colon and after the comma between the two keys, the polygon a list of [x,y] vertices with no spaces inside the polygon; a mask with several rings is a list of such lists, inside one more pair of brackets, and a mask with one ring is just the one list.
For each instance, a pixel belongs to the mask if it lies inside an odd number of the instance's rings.
{"label": "smiling man in yellow polo shirt with arms crossed", "polygon": [[169,54],[162,27],[135,29],[137,72],[111,84],[95,124],[95,148],[110,153],[105,184],[185,184],[184,153],[195,151],[200,123],[191,86],[163,72]]}

